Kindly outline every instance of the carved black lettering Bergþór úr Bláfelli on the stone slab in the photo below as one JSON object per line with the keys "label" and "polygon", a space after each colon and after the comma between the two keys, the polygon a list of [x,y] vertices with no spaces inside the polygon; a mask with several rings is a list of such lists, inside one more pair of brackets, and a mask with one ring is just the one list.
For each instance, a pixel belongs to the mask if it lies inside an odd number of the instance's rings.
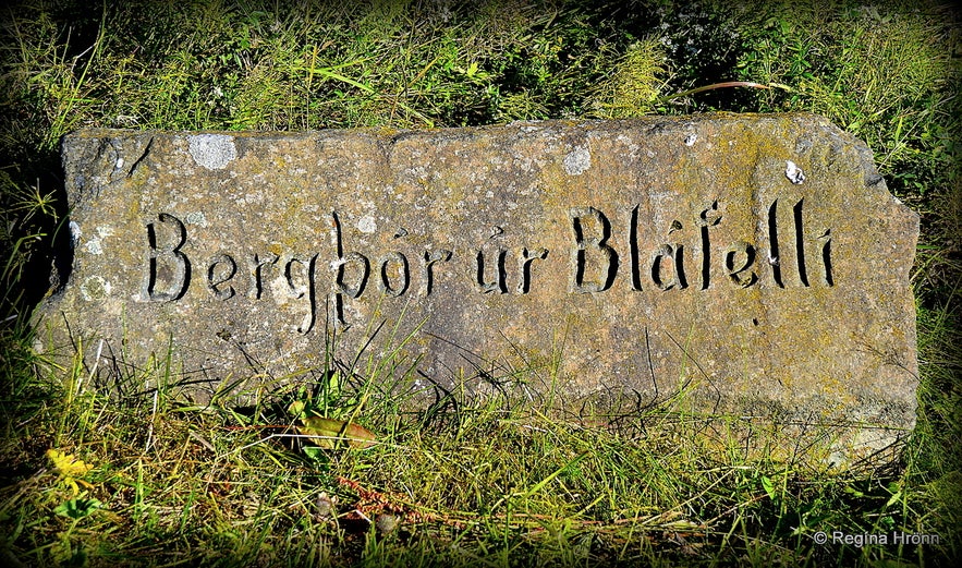
{"label": "carved black lettering Berg\u00fe\u00f3r \u00far Bl\u00e1felli on the stone slab", "polygon": [[[623,218],[623,226],[613,223],[600,208],[570,207],[567,219],[571,231],[569,293],[619,293],[620,289],[678,293],[721,286],[746,289],[763,282],[778,288],[833,287],[831,229],[820,228],[817,237],[808,239],[804,207],[804,200],[788,206],[775,200],[768,206],[764,231],[768,240],[764,249],[747,240],[723,244],[713,242],[713,233],[723,222],[717,201],[708,204],[691,221],[673,219],[667,242],[648,244],[640,242],[643,222],[640,206],[613,217]],[[330,221],[332,258],[322,259],[320,253],[313,251],[290,251],[281,255],[265,251],[246,258],[220,252],[202,262],[207,292],[212,299],[224,302],[236,300],[239,294],[261,300],[268,290],[279,293],[277,287],[272,288],[268,282],[280,281],[282,300],[299,301],[303,306],[303,315],[296,323],[297,331],[308,334],[316,327],[318,312],[324,310],[320,302],[329,303],[331,323],[343,329],[350,326],[344,306],[364,294],[430,297],[445,286],[443,281],[438,281],[436,267],[439,264],[459,265],[461,268],[454,271],[467,277],[475,293],[537,293],[538,278],[534,276],[537,269],[533,267],[537,266],[537,261],[560,254],[547,247],[506,247],[490,242],[467,251],[428,247],[413,255],[411,251],[379,254],[346,251],[337,212],[330,213]],[[686,222],[695,228],[695,233],[690,242],[679,242],[673,237],[683,232]],[[186,225],[168,212],[159,213],[145,229],[147,251],[141,300],[175,302],[192,289],[192,266],[197,261],[184,252],[191,234]],[[503,232],[500,228],[498,230]],[[619,230],[626,231],[625,239],[616,239]],[[616,242],[626,243],[628,250],[619,251]],[[413,267],[411,257],[419,266]],[[767,259],[767,269],[760,269],[759,259]],[[246,282],[238,281],[239,266],[247,267]],[[620,287],[619,280],[625,286]]]}

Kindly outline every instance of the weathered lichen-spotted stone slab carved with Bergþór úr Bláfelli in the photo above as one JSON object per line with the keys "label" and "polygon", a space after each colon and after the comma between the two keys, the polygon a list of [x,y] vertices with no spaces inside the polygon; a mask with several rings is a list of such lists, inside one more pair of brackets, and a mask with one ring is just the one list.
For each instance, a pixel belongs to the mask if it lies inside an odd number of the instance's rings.
{"label": "weathered lichen-spotted stone slab carved with Berg\u00fe\u00f3r \u00far Bl\u00e1felli", "polygon": [[170,353],[203,400],[306,380],[334,345],[414,388],[685,389],[882,426],[849,440],[869,449],[914,424],[918,219],[818,117],[87,130],[63,160],[72,271],[38,342],[100,370]]}

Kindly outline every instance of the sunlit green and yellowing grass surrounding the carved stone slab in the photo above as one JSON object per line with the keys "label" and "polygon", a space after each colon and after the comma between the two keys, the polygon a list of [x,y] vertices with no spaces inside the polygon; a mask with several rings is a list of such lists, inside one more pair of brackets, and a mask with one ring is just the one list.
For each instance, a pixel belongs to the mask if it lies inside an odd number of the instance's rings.
{"label": "sunlit green and yellowing grass surrounding the carved stone slab", "polygon": [[[896,2],[12,7],[0,32],[2,564],[951,564],[962,552],[957,19]],[[731,81],[774,88],[699,90]],[[710,109],[824,113],[868,142],[922,215],[918,426],[894,463],[827,475],[746,455],[735,424],[659,427],[663,409],[588,421],[463,396],[407,412],[373,388],[376,364],[259,407],[198,409],[171,388],[98,388],[80,363],[44,371],[29,347],[66,215],[57,144],[76,128]],[[123,392],[173,382],[163,361],[135,365],[114,377]],[[301,444],[293,399],[377,443]],[[818,530],[940,542],[818,545]]]}

